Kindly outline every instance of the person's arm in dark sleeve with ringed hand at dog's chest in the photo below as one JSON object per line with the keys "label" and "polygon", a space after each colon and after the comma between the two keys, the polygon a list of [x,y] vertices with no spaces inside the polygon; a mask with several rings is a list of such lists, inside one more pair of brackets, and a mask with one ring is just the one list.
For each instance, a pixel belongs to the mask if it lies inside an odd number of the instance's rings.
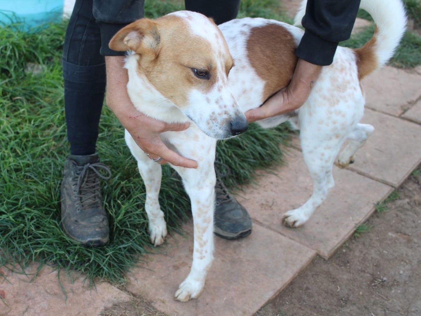
{"label": "person's arm in dark sleeve with ringed hand at dog's chest", "polygon": [[161,157],[160,164],[197,168],[197,162],[181,157],[165,146],[159,133],[184,131],[190,123],[168,124],[136,110],[127,93],[128,74],[124,66],[125,52],[113,51],[108,43],[117,31],[143,17],[143,0],[94,0],[93,15],[101,28],[101,54],[107,67],[107,106],[150,158]]}

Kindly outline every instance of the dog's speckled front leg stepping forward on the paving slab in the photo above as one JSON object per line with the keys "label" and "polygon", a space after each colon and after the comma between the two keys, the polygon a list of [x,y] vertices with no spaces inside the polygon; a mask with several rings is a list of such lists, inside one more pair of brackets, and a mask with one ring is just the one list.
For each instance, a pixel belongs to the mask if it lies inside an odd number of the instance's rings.
{"label": "dog's speckled front leg stepping forward on the paving slab", "polygon": [[213,211],[216,177],[213,161],[200,163],[196,170],[184,169],[179,173],[191,200],[194,223],[192,268],[175,294],[177,300],[186,302],[191,298],[197,298],[203,291],[206,274],[213,260]]}

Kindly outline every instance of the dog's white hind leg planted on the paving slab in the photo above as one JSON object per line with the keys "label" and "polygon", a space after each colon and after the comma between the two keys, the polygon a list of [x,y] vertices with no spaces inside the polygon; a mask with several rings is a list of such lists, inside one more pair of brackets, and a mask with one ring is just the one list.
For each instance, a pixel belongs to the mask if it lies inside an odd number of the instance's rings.
{"label": "dog's white hind leg planted on the paving slab", "polygon": [[303,131],[301,131],[301,147],[304,161],[313,179],[313,194],[301,207],[284,214],[282,222],[288,227],[303,225],[314,210],[325,201],[329,191],[335,186],[332,176],[333,161],[345,138],[331,138],[328,141],[320,142],[317,133],[311,136],[304,135],[304,137],[302,133]]}

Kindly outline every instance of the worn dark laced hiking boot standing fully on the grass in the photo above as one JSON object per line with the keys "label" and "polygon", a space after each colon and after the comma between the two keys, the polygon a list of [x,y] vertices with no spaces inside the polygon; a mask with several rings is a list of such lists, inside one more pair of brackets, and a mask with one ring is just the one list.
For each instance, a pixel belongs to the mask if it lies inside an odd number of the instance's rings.
{"label": "worn dark laced hiking boot standing fully on the grass", "polygon": [[[107,176],[99,169],[105,169]],[[102,246],[108,243],[108,215],[103,208],[101,180],[111,171],[99,162],[96,154],[70,155],[64,163],[61,183],[61,225],[70,238],[82,245]]]}

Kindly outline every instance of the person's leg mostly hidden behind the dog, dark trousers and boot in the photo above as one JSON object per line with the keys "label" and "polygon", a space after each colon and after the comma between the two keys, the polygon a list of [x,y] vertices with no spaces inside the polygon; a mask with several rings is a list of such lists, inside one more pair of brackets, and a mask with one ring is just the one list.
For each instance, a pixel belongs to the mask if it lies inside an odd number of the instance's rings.
{"label": "person's leg mostly hidden behind the dog, dark trousers and boot", "polygon": [[[195,11],[213,18],[216,24],[235,19],[240,6],[240,0],[185,0],[186,10]],[[215,160],[216,171],[216,206],[214,215],[214,232],[226,239],[237,239],[250,235],[252,223],[247,210],[230,195],[222,182],[219,167],[224,168]],[[226,167],[226,166],[225,166]],[[225,168],[226,169],[226,168]],[[227,170],[226,170],[227,171]]]}

